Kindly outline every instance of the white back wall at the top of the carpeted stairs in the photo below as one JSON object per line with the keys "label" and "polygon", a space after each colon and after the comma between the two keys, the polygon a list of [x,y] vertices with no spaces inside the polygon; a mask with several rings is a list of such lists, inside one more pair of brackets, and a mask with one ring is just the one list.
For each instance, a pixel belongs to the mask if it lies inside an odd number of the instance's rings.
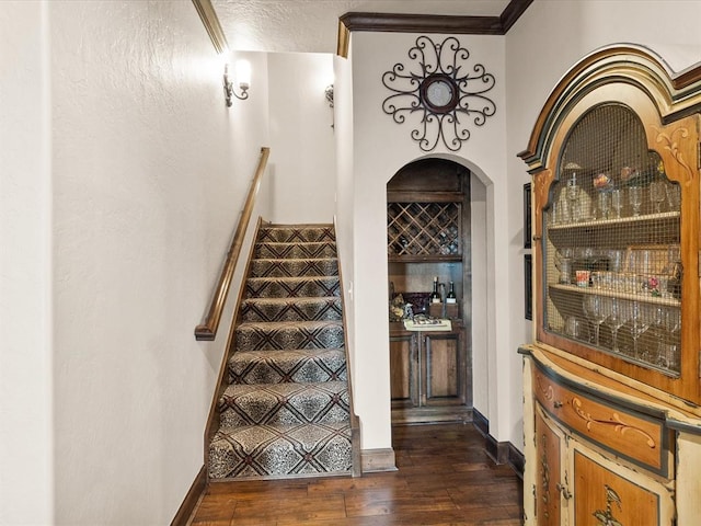
{"label": "white back wall at the top of the carpeted stairs", "polygon": [[333,83],[333,56],[268,55],[271,184],[274,222],[332,222],[336,157],[333,108],[324,91]]}

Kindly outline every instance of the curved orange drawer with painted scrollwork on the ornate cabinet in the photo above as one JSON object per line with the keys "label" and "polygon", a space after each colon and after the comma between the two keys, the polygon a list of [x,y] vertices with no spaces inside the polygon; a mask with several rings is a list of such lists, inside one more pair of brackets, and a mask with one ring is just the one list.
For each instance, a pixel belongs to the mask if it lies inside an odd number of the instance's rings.
{"label": "curved orange drawer with painted scrollwork on the ornate cabinet", "polygon": [[662,420],[604,400],[533,369],[533,395],[544,411],[614,455],[669,477],[670,431]]}

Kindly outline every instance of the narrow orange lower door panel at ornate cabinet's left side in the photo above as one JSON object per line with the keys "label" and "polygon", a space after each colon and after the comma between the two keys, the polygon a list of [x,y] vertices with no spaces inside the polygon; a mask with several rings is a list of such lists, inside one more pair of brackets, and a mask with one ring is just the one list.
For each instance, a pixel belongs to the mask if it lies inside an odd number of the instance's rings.
{"label": "narrow orange lower door panel at ornate cabinet's left side", "polygon": [[536,517],[538,526],[560,524],[561,434],[545,422],[542,410],[536,411]]}

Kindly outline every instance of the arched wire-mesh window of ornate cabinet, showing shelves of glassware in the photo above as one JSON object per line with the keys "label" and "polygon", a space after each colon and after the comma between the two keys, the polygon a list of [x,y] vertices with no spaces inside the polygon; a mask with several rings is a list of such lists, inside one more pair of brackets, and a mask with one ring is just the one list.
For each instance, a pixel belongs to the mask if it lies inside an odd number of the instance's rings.
{"label": "arched wire-mesh window of ornate cabinet, showing shelves of glassware", "polygon": [[697,290],[691,278],[682,295],[683,268],[696,263],[681,260],[683,167],[665,162],[660,145],[647,142],[634,108],[616,102],[587,110],[566,135],[540,214],[540,320],[552,342],[664,386],[656,376],[681,377],[682,305]]}

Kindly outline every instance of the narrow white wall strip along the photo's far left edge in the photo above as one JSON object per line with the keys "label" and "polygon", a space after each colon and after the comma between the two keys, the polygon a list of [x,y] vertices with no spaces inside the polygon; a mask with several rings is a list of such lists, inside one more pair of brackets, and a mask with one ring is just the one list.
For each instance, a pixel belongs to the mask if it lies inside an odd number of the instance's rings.
{"label": "narrow white wall strip along the photo's far left edge", "polygon": [[0,3],[0,524],[54,515],[46,5]]}

